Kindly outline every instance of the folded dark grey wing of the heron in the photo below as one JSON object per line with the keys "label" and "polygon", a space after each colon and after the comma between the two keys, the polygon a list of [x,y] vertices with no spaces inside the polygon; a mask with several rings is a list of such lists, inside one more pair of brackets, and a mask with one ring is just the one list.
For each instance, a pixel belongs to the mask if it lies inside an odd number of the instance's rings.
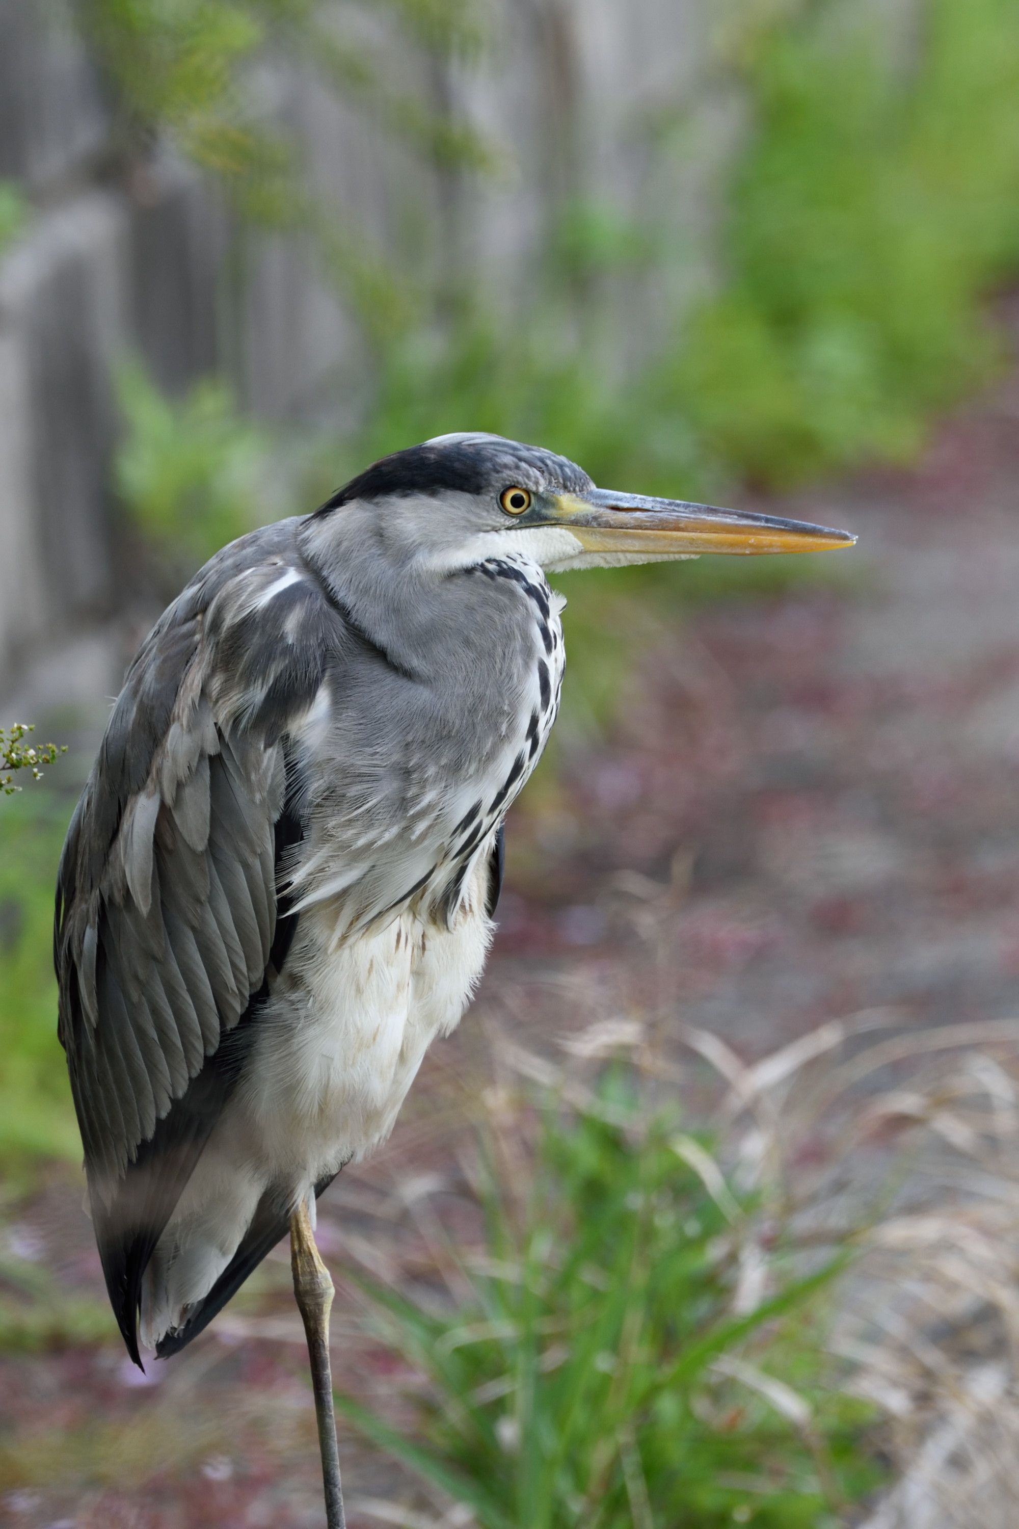
{"label": "folded dark grey wing of the heron", "polygon": [[134,1359],[145,1264],[293,933],[277,893],[301,836],[286,723],[318,693],[336,618],[309,579],[263,609],[286,528],[226,549],[157,624],[60,865],[60,1037]]}

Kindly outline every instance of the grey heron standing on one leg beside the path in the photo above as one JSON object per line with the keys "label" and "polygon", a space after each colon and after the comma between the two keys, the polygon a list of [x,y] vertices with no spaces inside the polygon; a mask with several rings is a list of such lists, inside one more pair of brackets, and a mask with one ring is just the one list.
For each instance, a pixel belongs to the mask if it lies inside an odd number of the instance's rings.
{"label": "grey heron standing on one leg beside the path", "polygon": [[330,1529],[315,1200],[481,974],[503,820],[559,706],[545,573],[845,547],[457,434],[231,543],[113,706],[57,890],[60,1037],[124,1342],[177,1353],[290,1231]]}

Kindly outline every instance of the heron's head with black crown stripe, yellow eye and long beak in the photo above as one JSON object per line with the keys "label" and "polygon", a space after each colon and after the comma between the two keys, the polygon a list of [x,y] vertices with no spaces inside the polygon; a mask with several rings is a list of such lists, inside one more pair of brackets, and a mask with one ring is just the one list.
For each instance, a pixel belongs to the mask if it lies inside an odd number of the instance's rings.
{"label": "heron's head with black crown stripe, yellow eye and long beak", "polygon": [[347,512],[390,557],[437,572],[507,550],[565,572],[856,541],[799,520],[596,488],[565,457],[487,434],[437,436],[382,457],[318,511],[313,538]]}

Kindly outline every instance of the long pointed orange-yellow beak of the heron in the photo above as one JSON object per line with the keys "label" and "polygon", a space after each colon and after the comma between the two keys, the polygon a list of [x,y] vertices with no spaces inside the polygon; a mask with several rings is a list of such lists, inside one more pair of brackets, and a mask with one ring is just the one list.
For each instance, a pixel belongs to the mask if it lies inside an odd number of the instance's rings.
{"label": "long pointed orange-yellow beak of the heron", "polygon": [[689,558],[701,552],[830,552],[851,547],[848,531],[830,531],[804,520],[782,520],[742,509],[715,509],[678,498],[646,498],[596,488],[558,494],[541,515],[567,528],[585,552]]}

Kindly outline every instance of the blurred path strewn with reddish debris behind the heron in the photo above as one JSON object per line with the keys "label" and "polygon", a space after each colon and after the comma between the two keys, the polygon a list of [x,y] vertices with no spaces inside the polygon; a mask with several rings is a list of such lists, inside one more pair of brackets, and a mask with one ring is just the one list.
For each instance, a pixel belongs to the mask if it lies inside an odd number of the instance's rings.
{"label": "blurred path strewn with reddish debris behind the heron", "polygon": [[[648,653],[613,743],[513,824],[474,1017],[388,1151],[330,1191],[327,1243],[449,1162],[448,1083],[486,1078],[489,1017],[545,1043],[651,1015],[762,1052],[871,1006],[911,1024],[1019,1014],[1019,372],[917,471],[782,509],[857,531],[862,587],[706,609]],[[5,1217],[0,1274],[35,1283],[40,1312],[47,1266],[99,1297],[64,1170]],[[0,1353],[0,1523],[318,1523],[281,1254],[226,1318],[148,1379],[112,1341]],[[341,1370],[350,1336],[341,1312]],[[377,1489],[354,1465],[353,1495]]]}

